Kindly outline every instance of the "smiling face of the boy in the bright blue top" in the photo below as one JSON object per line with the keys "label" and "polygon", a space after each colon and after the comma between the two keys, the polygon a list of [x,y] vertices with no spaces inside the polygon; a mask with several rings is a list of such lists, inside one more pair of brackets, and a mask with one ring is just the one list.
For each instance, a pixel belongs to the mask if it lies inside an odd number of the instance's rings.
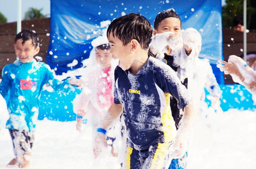
{"label": "smiling face of the boy in the bright blue top", "polygon": [[23,45],[22,41],[22,39],[18,39],[14,44],[16,56],[22,63],[33,62],[33,57],[39,53],[40,48],[33,46],[31,39],[26,40]]}

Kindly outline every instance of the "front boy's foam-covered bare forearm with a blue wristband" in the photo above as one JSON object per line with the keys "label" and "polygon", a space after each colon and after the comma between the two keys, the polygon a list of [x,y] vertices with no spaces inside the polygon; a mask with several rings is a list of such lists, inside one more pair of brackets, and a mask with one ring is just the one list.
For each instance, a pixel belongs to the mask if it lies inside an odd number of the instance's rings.
{"label": "front boy's foam-covered bare forearm with a blue wristband", "polygon": [[122,112],[122,104],[113,103],[106,113],[105,117],[102,119],[100,124],[97,127],[97,133],[94,138],[94,157],[97,158],[100,156],[102,148],[107,147],[106,143],[106,130],[108,126],[118,117]]}

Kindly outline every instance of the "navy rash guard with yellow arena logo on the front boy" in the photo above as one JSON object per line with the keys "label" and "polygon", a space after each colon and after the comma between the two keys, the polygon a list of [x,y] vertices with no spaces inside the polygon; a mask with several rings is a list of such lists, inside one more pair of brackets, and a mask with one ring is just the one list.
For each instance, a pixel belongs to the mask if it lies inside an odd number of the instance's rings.
{"label": "navy rash guard with yellow arena logo on the front boy", "polygon": [[137,150],[156,143],[170,142],[175,137],[175,124],[170,108],[170,95],[179,108],[190,102],[188,91],[170,66],[149,57],[137,74],[115,70],[114,103],[123,104],[127,143]]}

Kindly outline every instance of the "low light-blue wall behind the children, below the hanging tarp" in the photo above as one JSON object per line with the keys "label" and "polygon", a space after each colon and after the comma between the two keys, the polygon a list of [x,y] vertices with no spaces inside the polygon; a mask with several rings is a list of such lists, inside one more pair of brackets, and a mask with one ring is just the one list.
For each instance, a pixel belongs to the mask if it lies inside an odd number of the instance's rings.
{"label": "low light-blue wall behind the children, below the hanging tarp", "polygon": [[[222,110],[228,111],[230,108],[240,111],[255,111],[256,105],[252,100],[252,94],[242,85],[220,85],[222,98],[220,106]],[[45,117],[49,120],[74,121],[76,114],[73,112],[72,101],[79,91],[71,92],[68,95],[58,94],[57,92],[42,91],[39,102],[39,120]],[[207,94],[207,92],[206,92]],[[210,106],[211,101],[205,98],[205,102]],[[75,128],[75,126],[74,126]]]}

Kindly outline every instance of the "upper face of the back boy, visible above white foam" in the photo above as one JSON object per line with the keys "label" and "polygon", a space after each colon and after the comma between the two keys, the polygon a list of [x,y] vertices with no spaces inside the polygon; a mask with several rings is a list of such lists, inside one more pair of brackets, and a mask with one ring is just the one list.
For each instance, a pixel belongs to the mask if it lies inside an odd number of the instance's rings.
{"label": "upper face of the back boy, visible above white foam", "polygon": [[156,33],[164,33],[164,32],[173,32],[175,35],[181,36],[181,27],[180,27],[179,18],[165,18],[163,19],[158,28],[154,30],[154,35]]}

